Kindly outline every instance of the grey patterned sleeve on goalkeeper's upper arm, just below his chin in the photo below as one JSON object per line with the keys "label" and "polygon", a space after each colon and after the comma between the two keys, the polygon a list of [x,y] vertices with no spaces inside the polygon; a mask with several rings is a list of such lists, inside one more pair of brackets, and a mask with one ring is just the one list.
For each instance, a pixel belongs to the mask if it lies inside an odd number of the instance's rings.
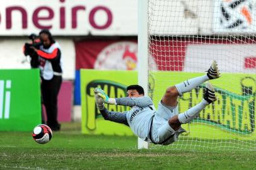
{"label": "grey patterned sleeve on goalkeeper's upper arm, just below his chin", "polygon": [[151,98],[149,98],[149,96],[141,96],[139,98],[129,98],[129,97],[116,98],[115,102],[117,103],[117,105],[130,106],[130,107],[138,106],[141,108],[144,108],[149,105],[153,105],[153,101]]}

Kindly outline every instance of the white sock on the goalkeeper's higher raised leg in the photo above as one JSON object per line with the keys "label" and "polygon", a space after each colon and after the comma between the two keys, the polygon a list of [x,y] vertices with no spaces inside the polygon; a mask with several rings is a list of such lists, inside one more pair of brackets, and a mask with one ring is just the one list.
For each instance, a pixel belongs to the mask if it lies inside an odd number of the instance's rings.
{"label": "white sock on the goalkeeper's higher raised leg", "polygon": [[178,94],[183,94],[188,91],[191,91],[192,89],[196,88],[203,82],[206,82],[209,80],[209,77],[207,75],[195,77],[193,79],[189,79],[187,81],[181,82],[180,84],[176,84],[175,87],[177,88]]}

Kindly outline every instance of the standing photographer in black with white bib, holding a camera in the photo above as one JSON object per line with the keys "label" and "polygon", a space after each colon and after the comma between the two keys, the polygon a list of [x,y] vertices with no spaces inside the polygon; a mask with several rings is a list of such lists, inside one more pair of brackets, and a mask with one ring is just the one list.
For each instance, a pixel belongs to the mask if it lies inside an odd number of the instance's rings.
{"label": "standing photographer in black with white bib, holding a camera", "polygon": [[49,30],[40,31],[39,36],[40,42],[33,40],[32,45],[25,44],[25,55],[30,55],[33,68],[40,68],[47,125],[52,130],[60,130],[61,125],[57,122],[57,96],[62,83],[61,47]]}

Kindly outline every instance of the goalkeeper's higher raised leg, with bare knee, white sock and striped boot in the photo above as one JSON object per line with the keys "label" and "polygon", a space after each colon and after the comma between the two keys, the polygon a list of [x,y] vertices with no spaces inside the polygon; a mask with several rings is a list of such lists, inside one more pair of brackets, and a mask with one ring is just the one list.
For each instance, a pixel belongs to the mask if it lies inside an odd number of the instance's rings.
{"label": "goalkeeper's higher raised leg, with bare knee, white sock and striped boot", "polygon": [[202,84],[202,82],[206,82],[209,79],[217,79],[219,77],[220,73],[218,70],[218,64],[216,61],[213,61],[206,75],[189,79],[166,89],[166,93],[162,98],[162,102],[166,106],[175,107],[177,106],[178,95],[191,91],[192,89]]}

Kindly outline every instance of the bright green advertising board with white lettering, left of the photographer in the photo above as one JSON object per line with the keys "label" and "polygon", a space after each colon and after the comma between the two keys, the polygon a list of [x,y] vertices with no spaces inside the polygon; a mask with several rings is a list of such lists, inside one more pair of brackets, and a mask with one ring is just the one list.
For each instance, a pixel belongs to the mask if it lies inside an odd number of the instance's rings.
{"label": "bright green advertising board with white lettering, left of the photographer", "polygon": [[0,70],[0,131],[32,131],[40,123],[39,70]]}

